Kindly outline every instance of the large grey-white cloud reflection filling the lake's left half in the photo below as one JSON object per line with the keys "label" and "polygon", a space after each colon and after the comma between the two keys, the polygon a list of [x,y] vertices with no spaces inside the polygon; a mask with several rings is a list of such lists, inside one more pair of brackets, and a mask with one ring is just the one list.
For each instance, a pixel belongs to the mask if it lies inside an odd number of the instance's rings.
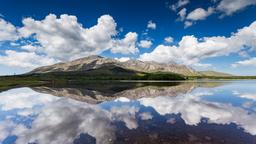
{"label": "large grey-white cloud reflection filling the lake's left half", "polygon": [[[22,116],[33,120],[28,128],[24,124],[26,122],[16,123],[4,117],[4,121],[0,121],[0,141],[15,135],[17,144],[73,143],[75,139],[79,139],[80,134],[88,134],[96,139],[97,144],[108,144],[115,140],[115,121],[124,122],[129,129],[138,127],[135,117],[138,107],[129,105],[104,110],[100,106],[37,93],[29,88],[6,91],[1,93],[0,97],[4,98],[0,102],[2,111],[18,110],[18,113],[24,114],[31,110]],[[121,101],[129,102],[127,99],[118,100]],[[8,114],[15,117],[18,115]]]}

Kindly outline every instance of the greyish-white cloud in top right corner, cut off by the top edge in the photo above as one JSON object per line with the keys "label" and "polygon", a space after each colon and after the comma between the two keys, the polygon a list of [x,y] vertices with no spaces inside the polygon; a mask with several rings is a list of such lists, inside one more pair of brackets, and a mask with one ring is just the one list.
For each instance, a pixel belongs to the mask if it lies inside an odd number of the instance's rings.
{"label": "greyish-white cloud in top right corner, cut off by the top edge", "polygon": [[233,13],[242,10],[250,5],[256,5],[255,0],[222,0],[217,10],[224,13],[224,15],[232,15]]}

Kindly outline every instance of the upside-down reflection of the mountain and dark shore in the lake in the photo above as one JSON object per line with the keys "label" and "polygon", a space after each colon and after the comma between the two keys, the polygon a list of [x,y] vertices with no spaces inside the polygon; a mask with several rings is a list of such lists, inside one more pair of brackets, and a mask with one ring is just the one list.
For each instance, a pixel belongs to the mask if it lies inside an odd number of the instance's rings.
{"label": "upside-down reflection of the mountain and dark shore in the lake", "polygon": [[114,100],[119,97],[138,99],[142,97],[177,96],[189,93],[197,87],[217,87],[223,82],[197,83],[90,83],[88,85],[72,85],[62,87],[33,87],[34,91],[54,96],[68,97],[91,104]]}

